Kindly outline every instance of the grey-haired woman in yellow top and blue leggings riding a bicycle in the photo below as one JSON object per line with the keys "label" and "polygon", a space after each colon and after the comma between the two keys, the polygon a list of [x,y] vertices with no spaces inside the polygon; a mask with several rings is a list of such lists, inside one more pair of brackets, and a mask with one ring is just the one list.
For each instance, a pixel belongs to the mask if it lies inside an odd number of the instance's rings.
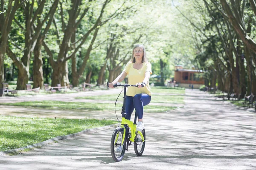
{"label": "grey-haired woman in yellow top and blue leggings riding a bicycle", "polygon": [[131,61],[125,66],[122,73],[109,84],[113,88],[117,82],[122,82],[128,75],[128,84],[138,85],[138,87],[128,87],[126,93],[125,119],[131,119],[131,113],[135,111],[138,116],[137,130],[144,129],[143,124],[143,106],[151,101],[151,92],[149,89],[149,77],[152,74],[151,64],[146,57],[146,51],[143,45],[135,45],[132,52]]}

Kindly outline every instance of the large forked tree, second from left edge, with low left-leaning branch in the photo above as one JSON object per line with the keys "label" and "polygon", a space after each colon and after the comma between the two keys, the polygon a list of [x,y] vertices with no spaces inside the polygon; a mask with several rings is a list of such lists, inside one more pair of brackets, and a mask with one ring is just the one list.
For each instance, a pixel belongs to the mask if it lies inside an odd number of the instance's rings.
{"label": "large forked tree, second from left edge, with low left-leaning branch", "polygon": [[[23,57],[21,60],[16,56],[10,47],[7,48],[8,56],[13,60],[15,65],[18,68],[18,79],[17,79],[17,88],[16,90],[26,89],[26,83],[29,81],[29,65],[30,59],[32,57],[32,52],[34,51],[35,45],[37,43],[38,37],[41,33],[41,29],[44,26],[44,23],[48,20],[50,16],[54,15],[55,9],[58,4],[58,0],[52,4],[49,12],[44,17],[42,22],[35,24],[36,18],[38,15],[42,14],[42,9],[44,8],[45,0],[38,1],[38,8],[34,11],[34,3],[32,0],[26,1],[23,3],[23,14],[25,20],[25,28],[20,24],[17,24],[20,29],[24,31],[24,48],[23,48]],[[34,26],[34,24],[36,26]]]}

